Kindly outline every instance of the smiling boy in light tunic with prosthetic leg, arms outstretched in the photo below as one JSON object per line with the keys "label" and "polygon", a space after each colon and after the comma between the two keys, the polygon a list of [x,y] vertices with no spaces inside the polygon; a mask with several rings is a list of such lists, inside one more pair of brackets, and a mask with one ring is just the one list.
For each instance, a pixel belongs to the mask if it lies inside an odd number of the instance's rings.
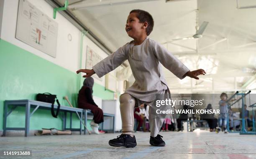
{"label": "smiling boy in light tunic with prosthetic leg, arms outstretched", "polygon": [[[92,70],[82,69],[90,77],[93,74],[102,77],[128,60],[135,78],[131,87],[120,96],[120,112],[122,118],[122,134],[109,141],[114,147],[135,147],[137,145],[133,134],[134,118],[133,108],[136,105],[149,105],[149,124],[151,129],[150,144],[164,146],[165,142],[159,135],[159,130],[164,122],[160,117],[153,117],[150,113],[156,107],[154,99],[156,94],[170,94],[160,63],[174,75],[183,79],[186,76],[199,79],[198,75],[205,75],[205,71],[195,70],[190,72],[176,57],[169,53],[158,42],[148,38],[154,27],[152,16],[144,10],[132,10],[128,15],[125,30],[133,41],[126,43],[116,52],[92,67]],[[160,63],[159,63],[160,62]]]}

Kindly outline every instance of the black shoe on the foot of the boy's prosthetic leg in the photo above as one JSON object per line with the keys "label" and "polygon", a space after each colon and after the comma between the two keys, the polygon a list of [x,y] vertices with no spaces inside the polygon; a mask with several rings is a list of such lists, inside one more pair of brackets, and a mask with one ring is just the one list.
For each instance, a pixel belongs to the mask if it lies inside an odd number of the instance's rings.
{"label": "black shoe on the foot of the boy's prosthetic leg", "polygon": [[109,140],[108,144],[113,147],[136,147],[137,142],[135,136],[121,134],[116,139]]}

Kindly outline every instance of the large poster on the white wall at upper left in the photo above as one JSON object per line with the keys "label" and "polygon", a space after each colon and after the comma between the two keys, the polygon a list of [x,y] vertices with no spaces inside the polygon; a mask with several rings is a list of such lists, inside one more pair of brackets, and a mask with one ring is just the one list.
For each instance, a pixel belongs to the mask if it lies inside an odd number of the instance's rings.
{"label": "large poster on the white wall at upper left", "polygon": [[15,35],[18,40],[56,57],[57,33],[58,23],[28,0],[19,1]]}

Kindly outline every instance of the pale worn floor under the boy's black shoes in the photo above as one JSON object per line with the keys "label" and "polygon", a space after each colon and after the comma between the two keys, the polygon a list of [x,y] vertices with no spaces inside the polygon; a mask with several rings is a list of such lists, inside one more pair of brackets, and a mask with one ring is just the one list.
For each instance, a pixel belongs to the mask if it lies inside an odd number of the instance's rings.
{"label": "pale worn floor under the boy's black shoes", "polygon": [[165,147],[152,147],[149,133],[136,133],[134,148],[110,147],[108,140],[119,134],[91,134],[0,137],[0,150],[32,150],[33,159],[256,159],[256,135],[202,130],[160,134]]}

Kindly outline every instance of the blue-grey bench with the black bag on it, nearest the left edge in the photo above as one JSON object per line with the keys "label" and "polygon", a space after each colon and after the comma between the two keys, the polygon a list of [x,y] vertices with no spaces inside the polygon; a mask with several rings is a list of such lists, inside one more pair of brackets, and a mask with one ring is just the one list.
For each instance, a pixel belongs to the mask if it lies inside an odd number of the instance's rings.
{"label": "blue-grey bench with the black bag on it, nearest the left edge", "polygon": [[[46,103],[46,102],[39,102],[35,100],[5,100],[5,105],[4,105],[4,120],[3,120],[3,136],[5,136],[6,130],[25,130],[25,137],[28,137],[29,134],[29,123],[30,123],[30,117],[36,112],[38,108],[40,109],[46,109],[46,110],[51,110],[51,104]],[[13,107],[10,109],[8,112],[8,106],[13,105]],[[7,122],[7,117],[10,115],[13,110],[18,107],[26,107],[26,116],[25,116],[25,127],[6,127],[6,122]],[[54,105],[54,110],[57,109],[57,105]],[[31,109],[33,109],[33,112],[30,113]],[[61,106],[60,107],[60,112],[64,112],[64,117],[63,117],[63,130],[69,129],[71,131],[80,131],[80,135],[82,134],[82,122],[80,122],[80,128],[79,129],[72,129],[72,113],[76,112],[79,114],[79,116],[82,119],[83,116],[83,109],[80,108],[73,108],[73,107],[66,107],[66,106]],[[70,128],[66,128],[67,125],[67,113],[70,113]]]}

